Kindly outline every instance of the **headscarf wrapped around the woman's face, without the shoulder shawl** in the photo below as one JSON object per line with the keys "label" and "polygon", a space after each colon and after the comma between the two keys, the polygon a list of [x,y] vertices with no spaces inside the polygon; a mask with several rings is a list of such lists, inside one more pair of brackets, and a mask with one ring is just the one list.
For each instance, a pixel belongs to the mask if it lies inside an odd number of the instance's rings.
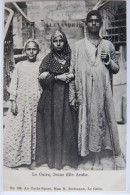
{"label": "headscarf wrapped around the woman's face, without the shoulder shawl", "polygon": [[[58,37],[58,36],[61,36],[63,41],[64,41],[64,45],[63,45],[63,48],[61,51],[57,51],[54,47],[54,44],[53,44],[53,40]],[[68,41],[67,41],[67,38],[66,38],[66,35],[64,32],[62,32],[61,30],[56,30],[53,35],[51,36],[51,45],[50,45],[50,49],[51,49],[51,52],[52,54],[56,55],[57,57],[59,57],[60,59],[68,59],[70,58],[70,55],[71,55],[71,49],[70,49],[70,46],[68,44]]]}

